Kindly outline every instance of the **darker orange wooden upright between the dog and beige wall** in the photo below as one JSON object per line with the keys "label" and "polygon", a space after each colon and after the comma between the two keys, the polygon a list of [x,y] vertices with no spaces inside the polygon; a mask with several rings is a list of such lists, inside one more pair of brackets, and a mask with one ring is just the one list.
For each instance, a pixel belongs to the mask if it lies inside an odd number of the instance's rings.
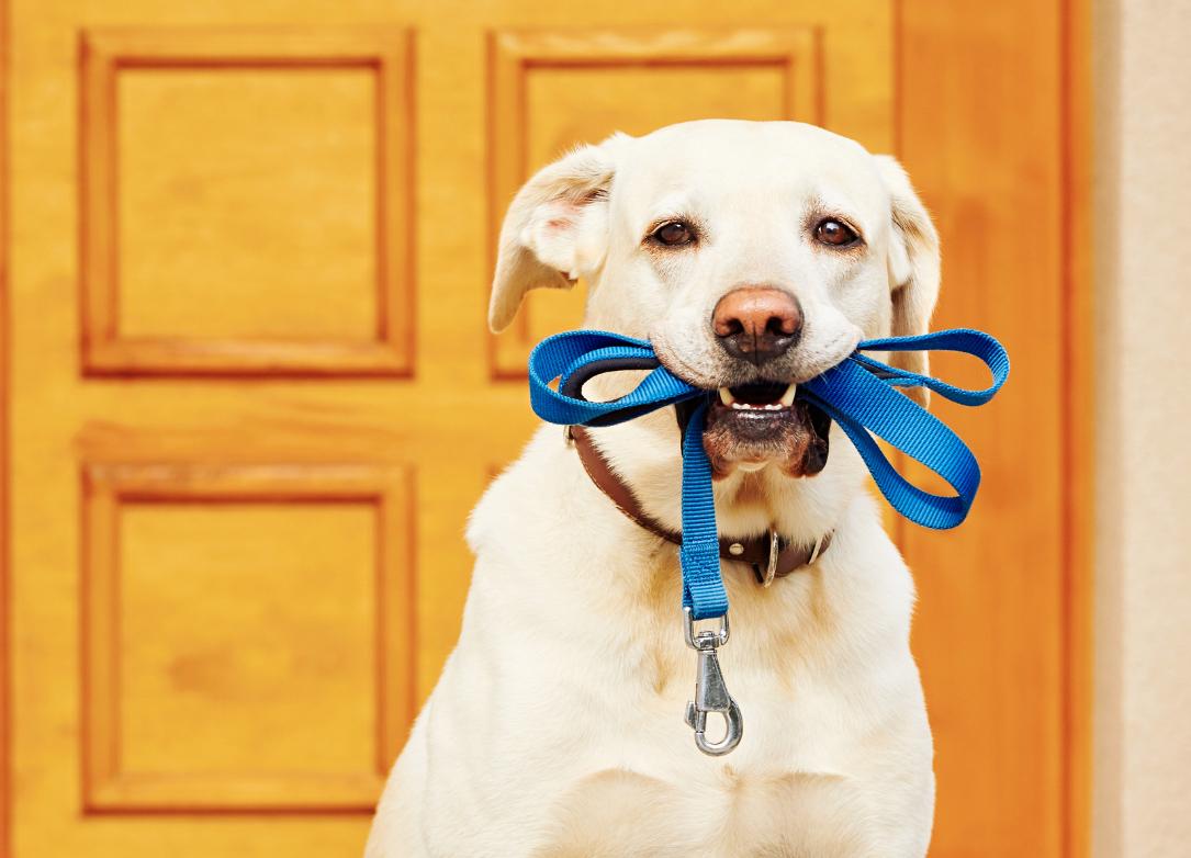
{"label": "darker orange wooden upright between the dog and beige wall", "polygon": [[1091,463],[1079,308],[1090,289],[1073,246],[1086,200],[1072,151],[1086,133],[1085,84],[1073,79],[1086,69],[1071,54],[1086,32],[1072,8],[900,5],[899,154],[943,244],[934,326],[992,331],[1014,359],[989,413],[936,406],[985,472],[972,518],[949,534],[902,531],[922,602],[915,651],[936,738],[936,856],[1087,847],[1078,807]]}

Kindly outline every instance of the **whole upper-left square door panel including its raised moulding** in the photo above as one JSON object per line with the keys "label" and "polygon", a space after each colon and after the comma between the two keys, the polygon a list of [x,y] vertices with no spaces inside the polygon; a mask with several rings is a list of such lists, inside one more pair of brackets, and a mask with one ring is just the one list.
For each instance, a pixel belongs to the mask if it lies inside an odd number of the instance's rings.
{"label": "whole upper-left square door panel including its raised moulding", "polygon": [[88,372],[410,372],[407,31],[87,27],[80,68]]}

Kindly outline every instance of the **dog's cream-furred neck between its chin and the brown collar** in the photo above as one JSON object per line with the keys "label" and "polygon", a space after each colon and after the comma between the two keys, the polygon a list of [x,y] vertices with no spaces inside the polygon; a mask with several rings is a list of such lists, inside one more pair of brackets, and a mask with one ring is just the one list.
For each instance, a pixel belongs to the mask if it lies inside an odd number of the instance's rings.
{"label": "dog's cream-furred neck between its chin and the brown collar", "polygon": [[[682,457],[673,408],[596,430],[593,443],[629,486],[646,513],[680,532]],[[794,478],[767,466],[735,469],[716,480],[716,516],[722,537],[749,537],[773,527],[784,538],[813,543],[835,530],[865,469],[855,449],[833,428],[828,464],[815,477]]]}

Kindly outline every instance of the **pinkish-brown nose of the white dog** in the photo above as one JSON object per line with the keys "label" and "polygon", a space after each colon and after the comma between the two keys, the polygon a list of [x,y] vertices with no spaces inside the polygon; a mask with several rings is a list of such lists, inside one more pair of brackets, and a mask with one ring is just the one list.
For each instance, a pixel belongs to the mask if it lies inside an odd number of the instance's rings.
{"label": "pinkish-brown nose of the white dog", "polygon": [[782,289],[749,286],[719,299],[711,327],[732,357],[761,365],[786,353],[803,332],[803,308]]}

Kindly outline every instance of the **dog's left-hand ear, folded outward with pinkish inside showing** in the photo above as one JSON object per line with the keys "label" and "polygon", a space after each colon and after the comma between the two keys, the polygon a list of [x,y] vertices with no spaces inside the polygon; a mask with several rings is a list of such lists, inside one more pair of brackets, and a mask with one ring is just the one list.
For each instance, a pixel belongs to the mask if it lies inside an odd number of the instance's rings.
{"label": "dog's left-hand ear, folded outward with pinkish inside showing", "polygon": [[612,149],[623,134],[580,146],[542,168],[517,192],[504,226],[488,303],[488,326],[500,332],[530,289],[568,289],[604,262]]}

